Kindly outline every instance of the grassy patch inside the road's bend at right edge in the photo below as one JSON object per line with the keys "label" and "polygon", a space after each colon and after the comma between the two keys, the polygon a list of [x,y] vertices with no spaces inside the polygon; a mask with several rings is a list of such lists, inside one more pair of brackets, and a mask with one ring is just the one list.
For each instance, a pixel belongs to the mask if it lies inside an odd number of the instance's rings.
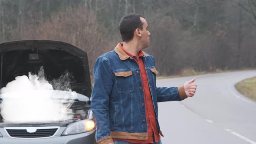
{"label": "grassy patch inside the road's bend at right edge", "polygon": [[241,94],[256,101],[256,77],[244,79],[238,82],[235,87]]}

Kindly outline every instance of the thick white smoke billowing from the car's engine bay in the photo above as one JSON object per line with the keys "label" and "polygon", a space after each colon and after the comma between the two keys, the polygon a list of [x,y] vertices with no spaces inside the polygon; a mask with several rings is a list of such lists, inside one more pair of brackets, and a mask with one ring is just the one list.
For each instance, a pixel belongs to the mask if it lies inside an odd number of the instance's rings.
{"label": "thick white smoke billowing from the car's engine bay", "polygon": [[[71,91],[69,73],[50,82],[44,77],[43,67],[38,75],[17,76],[0,89],[1,115],[7,123],[48,123],[73,118],[73,104],[77,94]],[[69,81],[68,81],[69,80]]]}

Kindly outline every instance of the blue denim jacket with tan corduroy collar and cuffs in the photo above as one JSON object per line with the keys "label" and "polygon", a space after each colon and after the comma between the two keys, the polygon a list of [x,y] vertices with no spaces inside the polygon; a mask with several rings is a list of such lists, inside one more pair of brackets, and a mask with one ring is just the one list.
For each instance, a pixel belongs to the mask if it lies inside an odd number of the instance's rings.
{"label": "blue denim jacket with tan corduroy collar and cuffs", "polygon": [[[184,87],[156,87],[154,58],[143,52],[144,66],[159,133],[158,102],[181,101],[187,98]],[[140,89],[140,87],[142,89]],[[139,65],[121,49],[99,56],[94,66],[94,88],[92,91],[92,111],[97,126],[98,144],[109,144],[112,138],[148,139],[144,92]]]}

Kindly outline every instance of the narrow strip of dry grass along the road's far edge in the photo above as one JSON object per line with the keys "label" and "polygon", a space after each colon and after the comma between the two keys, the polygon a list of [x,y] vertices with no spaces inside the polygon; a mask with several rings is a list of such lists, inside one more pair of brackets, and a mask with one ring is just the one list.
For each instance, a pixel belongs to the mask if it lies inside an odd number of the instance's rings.
{"label": "narrow strip of dry grass along the road's far edge", "polygon": [[204,75],[204,74],[211,74],[211,73],[221,73],[221,72],[237,72],[242,70],[251,70],[251,69],[239,69],[239,70],[220,70],[216,69],[210,72],[202,71],[196,72],[194,69],[184,69],[181,71],[179,75],[170,75],[170,76],[157,76],[157,79],[168,79],[168,78],[178,78],[184,76],[194,76],[194,75]]}

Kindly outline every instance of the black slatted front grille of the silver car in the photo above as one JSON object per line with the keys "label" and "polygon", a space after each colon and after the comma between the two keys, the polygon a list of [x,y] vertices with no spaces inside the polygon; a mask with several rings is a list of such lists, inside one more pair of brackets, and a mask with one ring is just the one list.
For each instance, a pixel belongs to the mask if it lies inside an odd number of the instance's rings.
{"label": "black slatted front grille of the silver car", "polygon": [[7,133],[10,135],[10,137],[17,137],[17,138],[43,138],[43,137],[52,137],[58,128],[37,128],[35,132],[28,132],[26,128],[24,129],[8,129],[5,128]]}

